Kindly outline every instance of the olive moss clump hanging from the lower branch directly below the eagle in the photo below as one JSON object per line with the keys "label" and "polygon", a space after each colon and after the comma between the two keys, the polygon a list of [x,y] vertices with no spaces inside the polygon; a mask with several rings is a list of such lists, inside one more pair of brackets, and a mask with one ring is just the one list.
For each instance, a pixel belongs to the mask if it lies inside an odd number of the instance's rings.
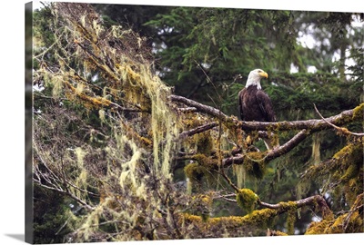
{"label": "olive moss clump hanging from the lower branch directly below the eagle", "polygon": [[249,177],[262,179],[266,173],[266,161],[264,152],[248,152],[244,158],[244,168]]}

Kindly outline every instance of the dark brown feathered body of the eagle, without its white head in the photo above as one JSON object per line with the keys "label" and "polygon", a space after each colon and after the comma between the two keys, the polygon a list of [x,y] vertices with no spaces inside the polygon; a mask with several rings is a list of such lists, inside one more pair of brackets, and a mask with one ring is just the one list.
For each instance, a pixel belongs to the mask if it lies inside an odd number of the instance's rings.
{"label": "dark brown feathered body of the eagle, without its white head", "polygon": [[245,87],[238,93],[242,121],[276,122],[276,115],[268,94],[256,85]]}

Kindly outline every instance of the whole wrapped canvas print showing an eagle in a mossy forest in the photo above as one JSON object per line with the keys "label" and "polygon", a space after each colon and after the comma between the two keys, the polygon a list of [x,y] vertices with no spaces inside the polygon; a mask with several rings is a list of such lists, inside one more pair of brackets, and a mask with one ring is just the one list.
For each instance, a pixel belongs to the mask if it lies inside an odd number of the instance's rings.
{"label": "whole wrapped canvas print showing an eagle in a mossy forest", "polygon": [[363,232],[362,13],[34,4],[27,242]]}

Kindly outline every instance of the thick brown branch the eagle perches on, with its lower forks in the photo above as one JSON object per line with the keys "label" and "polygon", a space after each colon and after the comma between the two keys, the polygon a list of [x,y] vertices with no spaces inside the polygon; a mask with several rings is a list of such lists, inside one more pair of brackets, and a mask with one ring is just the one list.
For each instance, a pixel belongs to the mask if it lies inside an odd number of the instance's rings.
{"label": "thick brown branch the eagle perches on, with its lower forks", "polygon": [[[361,103],[354,109],[343,111],[337,115],[331,116],[329,118],[323,119],[311,119],[305,121],[292,121],[292,122],[243,122],[238,121],[235,117],[229,117],[225,113],[217,110],[214,107],[197,103],[195,101],[189,100],[182,96],[170,95],[169,98],[173,102],[183,103],[189,107],[194,107],[199,113],[206,113],[213,116],[227,125],[228,128],[239,128],[244,131],[288,131],[288,130],[300,130],[294,137],[292,137],[288,142],[279,146],[272,151],[266,152],[261,161],[269,162],[279,156],[286,154],[296,147],[300,142],[305,140],[309,134],[313,132],[318,132],[321,130],[326,130],[331,127],[330,123],[335,125],[343,125],[349,122],[358,121],[363,118],[363,108],[364,103]],[[216,125],[215,122],[207,123],[206,125],[197,127],[196,129],[190,130],[188,132],[183,132],[181,135],[183,137],[188,136],[188,133],[198,133],[206,131]],[[243,148],[234,149],[232,156],[223,159],[222,165],[227,167],[231,164],[244,164],[247,154],[238,155],[238,153],[243,152]]]}

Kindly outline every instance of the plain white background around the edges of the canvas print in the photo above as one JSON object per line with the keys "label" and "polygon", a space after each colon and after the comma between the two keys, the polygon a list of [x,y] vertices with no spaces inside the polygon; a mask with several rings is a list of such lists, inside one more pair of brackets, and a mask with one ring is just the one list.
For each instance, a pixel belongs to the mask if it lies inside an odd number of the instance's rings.
{"label": "plain white background around the edges of the canvas print", "polygon": [[[66,1],[65,1],[66,2]],[[69,2],[69,1],[67,1]],[[103,1],[83,1],[102,3]],[[237,3],[238,2],[238,3]],[[24,244],[25,237],[25,79],[24,79],[24,23],[25,3],[27,1],[3,1],[1,11],[1,178],[0,178],[0,244]],[[364,12],[362,0],[134,0],[104,1],[113,4],[131,5],[188,5],[222,6],[258,9],[287,9],[307,11]],[[241,238],[219,240],[176,240],[173,244],[232,243],[232,244],[352,244],[363,240],[364,234],[355,235],[316,235],[271,238]],[[157,242],[118,242],[120,244],[169,244],[170,241]],[[110,244],[110,243],[94,243]],[[116,243],[112,243],[116,244]]]}

